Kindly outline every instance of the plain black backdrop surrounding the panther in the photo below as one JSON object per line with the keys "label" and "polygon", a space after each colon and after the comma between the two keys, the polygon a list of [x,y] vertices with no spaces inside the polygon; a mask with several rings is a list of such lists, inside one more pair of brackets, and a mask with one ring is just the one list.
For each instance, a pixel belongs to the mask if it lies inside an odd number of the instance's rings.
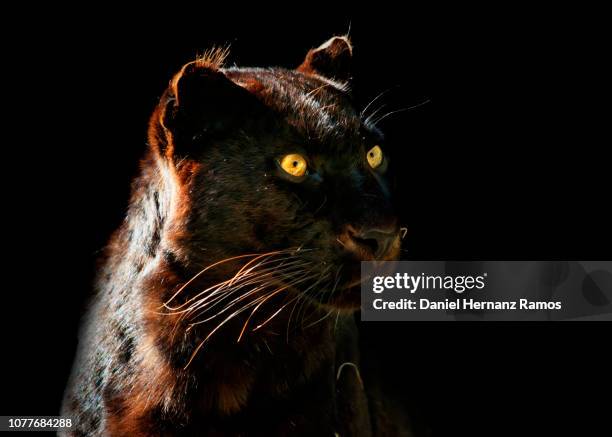
{"label": "plain black backdrop surrounding the panther", "polygon": [[[401,169],[405,258],[610,259],[599,11],[284,8],[6,18],[19,25],[4,35],[2,414],[58,413],[150,112],[213,44],[231,43],[230,64],[292,67],[350,25],[362,106],[387,89],[389,110],[429,100],[381,125]],[[371,323],[366,335],[364,353],[433,435],[601,435],[608,325]]]}

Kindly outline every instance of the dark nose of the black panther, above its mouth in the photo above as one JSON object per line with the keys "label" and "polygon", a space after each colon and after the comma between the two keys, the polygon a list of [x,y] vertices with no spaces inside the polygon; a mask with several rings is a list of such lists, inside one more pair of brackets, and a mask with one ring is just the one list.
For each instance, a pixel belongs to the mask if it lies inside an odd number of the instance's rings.
{"label": "dark nose of the black panther, above its mouth", "polygon": [[357,229],[349,225],[344,243],[345,249],[360,259],[391,259],[399,251],[400,232],[396,226]]}

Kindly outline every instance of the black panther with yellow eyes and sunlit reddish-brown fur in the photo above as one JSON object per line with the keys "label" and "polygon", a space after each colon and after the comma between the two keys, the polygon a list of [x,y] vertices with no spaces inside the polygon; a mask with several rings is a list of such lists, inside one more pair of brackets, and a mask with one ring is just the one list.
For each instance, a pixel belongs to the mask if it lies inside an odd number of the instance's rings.
{"label": "black panther with yellow eyes and sunlit reddish-brown fur", "polygon": [[400,232],[353,48],[296,69],[189,62],[149,124],[127,217],[85,317],[74,436],[409,435],[363,371],[362,260]]}

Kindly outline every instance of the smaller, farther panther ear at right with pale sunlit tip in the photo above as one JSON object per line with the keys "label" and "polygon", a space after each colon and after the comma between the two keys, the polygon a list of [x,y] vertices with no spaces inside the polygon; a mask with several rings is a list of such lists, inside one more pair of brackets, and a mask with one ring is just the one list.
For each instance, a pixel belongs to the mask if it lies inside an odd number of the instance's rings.
{"label": "smaller, farther panther ear at right with pale sunlit tip", "polygon": [[311,49],[297,69],[303,73],[347,81],[351,75],[352,56],[353,46],[348,37],[334,36],[316,49]]}

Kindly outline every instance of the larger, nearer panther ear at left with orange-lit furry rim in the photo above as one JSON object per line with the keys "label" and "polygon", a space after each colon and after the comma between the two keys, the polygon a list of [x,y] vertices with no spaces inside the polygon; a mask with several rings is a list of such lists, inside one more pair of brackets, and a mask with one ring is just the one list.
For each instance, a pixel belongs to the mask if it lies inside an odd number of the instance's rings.
{"label": "larger, nearer panther ear at left with orange-lit furry rim", "polygon": [[150,143],[163,154],[187,154],[194,143],[227,132],[261,106],[222,71],[226,55],[227,50],[210,51],[170,81],[149,125]]}

